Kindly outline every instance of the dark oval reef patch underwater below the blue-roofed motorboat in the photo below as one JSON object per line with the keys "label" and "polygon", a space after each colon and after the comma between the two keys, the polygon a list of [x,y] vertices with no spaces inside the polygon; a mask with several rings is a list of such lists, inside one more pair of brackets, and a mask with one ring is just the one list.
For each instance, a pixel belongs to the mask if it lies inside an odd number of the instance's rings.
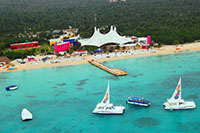
{"label": "dark oval reef patch underwater below the blue-roofed motorboat", "polygon": [[152,127],[160,125],[160,122],[155,118],[143,117],[134,121],[133,124],[138,127]]}

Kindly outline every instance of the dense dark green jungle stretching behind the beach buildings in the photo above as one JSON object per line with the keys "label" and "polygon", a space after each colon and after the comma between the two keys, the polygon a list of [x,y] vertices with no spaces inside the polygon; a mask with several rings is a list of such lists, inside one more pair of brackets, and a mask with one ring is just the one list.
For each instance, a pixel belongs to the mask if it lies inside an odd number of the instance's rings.
{"label": "dense dark green jungle stretching behind the beach buildings", "polygon": [[[118,0],[119,1],[119,0]],[[0,0],[0,49],[10,43],[51,35],[19,38],[19,33],[79,28],[90,37],[94,26],[106,33],[115,25],[121,35],[147,36],[163,44],[200,39],[199,0]]]}

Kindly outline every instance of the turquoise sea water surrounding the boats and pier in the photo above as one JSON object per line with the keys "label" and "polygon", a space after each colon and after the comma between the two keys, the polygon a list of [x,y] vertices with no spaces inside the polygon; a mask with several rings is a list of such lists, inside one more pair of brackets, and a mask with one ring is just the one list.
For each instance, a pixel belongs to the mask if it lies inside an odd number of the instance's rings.
{"label": "turquoise sea water surrounding the boats and pier", "polygon": [[[200,132],[200,53],[172,54],[109,61],[127,76],[115,77],[90,64],[0,74],[0,132]],[[182,77],[182,97],[194,110],[166,111]],[[111,102],[123,104],[123,115],[95,115],[110,80]],[[6,91],[17,84],[16,91]],[[143,96],[148,108],[128,105],[128,96]],[[22,108],[34,115],[20,120]]]}

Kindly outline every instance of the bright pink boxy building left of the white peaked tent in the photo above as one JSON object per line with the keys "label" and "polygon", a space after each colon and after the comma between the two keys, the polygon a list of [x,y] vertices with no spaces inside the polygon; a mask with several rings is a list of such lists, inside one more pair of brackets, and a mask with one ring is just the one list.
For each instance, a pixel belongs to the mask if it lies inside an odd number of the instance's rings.
{"label": "bright pink boxy building left of the white peaked tent", "polygon": [[70,42],[62,42],[54,44],[54,53],[64,52],[70,49]]}

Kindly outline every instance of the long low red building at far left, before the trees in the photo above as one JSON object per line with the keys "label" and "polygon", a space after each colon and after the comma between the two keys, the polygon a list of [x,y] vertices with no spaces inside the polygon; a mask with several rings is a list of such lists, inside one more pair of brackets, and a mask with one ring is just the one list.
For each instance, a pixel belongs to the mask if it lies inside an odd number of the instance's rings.
{"label": "long low red building at far left, before the trees", "polygon": [[34,48],[38,47],[38,42],[25,42],[25,43],[15,43],[10,44],[10,48],[16,50],[16,49],[24,49],[24,48]]}

